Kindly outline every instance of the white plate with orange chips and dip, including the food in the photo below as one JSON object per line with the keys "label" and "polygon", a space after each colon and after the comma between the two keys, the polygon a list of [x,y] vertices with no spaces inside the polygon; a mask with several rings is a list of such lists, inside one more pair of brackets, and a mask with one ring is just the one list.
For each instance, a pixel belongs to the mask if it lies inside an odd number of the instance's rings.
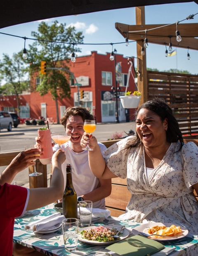
{"label": "white plate with orange chips and dip, including the food", "polygon": [[[173,223],[160,222],[141,224],[138,227],[133,228],[132,232],[134,235],[139,235],[139,232],[144,232],[148,235],[152,234],[152,236],[148,238],[161,241],[181,239],[189,233],[189,231],[183,226],[179,226]],[[165,235],[168,237],[160,237],[160,235]]]}

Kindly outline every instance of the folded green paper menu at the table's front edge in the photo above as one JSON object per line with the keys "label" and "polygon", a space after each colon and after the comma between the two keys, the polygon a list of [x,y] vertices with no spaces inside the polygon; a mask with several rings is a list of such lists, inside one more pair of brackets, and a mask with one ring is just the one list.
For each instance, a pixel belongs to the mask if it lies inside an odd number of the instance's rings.
{"label": "folded green paper menu at the table's front edge", "polygon": [[120,242],[106,247],[106,249],[122,256],[147,256],[164,248],[163,244],[141,235],[127,237]]}

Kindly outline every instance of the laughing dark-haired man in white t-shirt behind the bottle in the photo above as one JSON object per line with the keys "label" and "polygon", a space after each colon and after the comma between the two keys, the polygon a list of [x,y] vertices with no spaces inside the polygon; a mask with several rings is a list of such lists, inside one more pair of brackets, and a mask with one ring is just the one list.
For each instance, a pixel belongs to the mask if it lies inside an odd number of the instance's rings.
{"label": "laughing dark-haired man in white t-shirt behind the bottle", "polygon": [[[66,133],[71,133],[71,139],[61,145],[61,149],[66,154],[66,161],[62,164],[64,184],[66,185],[66,164],[70,163],[73,187],[77,197],[82,197],[81,200],[92,201],[93,208],[105,209],[105,197],[111,194],[111,179],[98,179],[90,170],[88,151],[82,150],[80,145],[85,120],[94,120],[94,116],[90,114],[89,108],[83,107],[68,107],[61,118],[61,124],[64,126]],[[40,141],[37,140],[37,143],[40,143]],[[101,152],[106,149],[105,145],[101,143],[99,143],[99,147]],[[55,145],[53,151],[56,152],[57,149],[59,149],[59,146]],[[40,161],[42,164],[48,164],[50,159],[40,159]]]}

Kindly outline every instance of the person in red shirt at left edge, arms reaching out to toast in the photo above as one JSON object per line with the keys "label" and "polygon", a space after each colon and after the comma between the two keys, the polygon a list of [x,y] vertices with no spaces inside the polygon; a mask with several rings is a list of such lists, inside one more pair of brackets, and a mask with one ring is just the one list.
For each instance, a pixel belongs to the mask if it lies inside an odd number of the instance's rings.
{"label": "person in red shirt at left edge, arms reaching out to toast", "polygon": [[[25,211],[33,210],[51,204],[64,192],[64,178],[61,164],[66,157],[59,149],[52,157],[53,175],[50,187],[27,189],[9,185],[14,176],[24,168],[34,164],[39,159],[39,149],[28,149],[18,154],[0,175],[0,255],[12,256],[12,240],[14,218],[22,216]],[[36,254],[32,254],[36,255]]]}

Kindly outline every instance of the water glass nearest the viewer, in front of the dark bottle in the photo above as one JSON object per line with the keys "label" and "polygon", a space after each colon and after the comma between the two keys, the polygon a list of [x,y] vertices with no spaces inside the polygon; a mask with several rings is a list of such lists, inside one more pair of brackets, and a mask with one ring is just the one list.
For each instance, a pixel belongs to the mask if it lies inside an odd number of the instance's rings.
{"label": "water glass nearest the viewer, in front of the dark bottle", "polygon": [[62,220],[62,228],[66,251],[76,251],[78,244],[78,220],[75,218],[64,219]]}

